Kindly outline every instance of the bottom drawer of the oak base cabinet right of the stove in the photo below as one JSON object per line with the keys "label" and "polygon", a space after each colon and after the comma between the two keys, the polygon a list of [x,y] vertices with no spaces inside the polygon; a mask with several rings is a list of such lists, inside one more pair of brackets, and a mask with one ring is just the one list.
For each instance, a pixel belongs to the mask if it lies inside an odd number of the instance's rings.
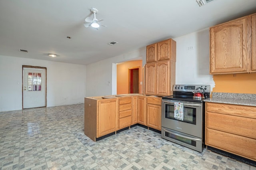
{"label": "bottom drawer of the oak base cabinet right of the stove", "polygon": [[256,161],[256,140],[206,128],[206,145]]}

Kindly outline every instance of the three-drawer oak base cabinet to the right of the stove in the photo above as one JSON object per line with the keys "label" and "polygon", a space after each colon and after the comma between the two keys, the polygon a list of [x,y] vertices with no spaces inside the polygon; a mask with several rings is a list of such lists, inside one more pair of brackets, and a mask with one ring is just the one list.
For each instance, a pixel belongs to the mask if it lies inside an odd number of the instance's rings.
{"label": "three-drawer oak base cabinet to the right of the stove", "polygon": [[256,161],[256,107],[206,102],[205,144]]}

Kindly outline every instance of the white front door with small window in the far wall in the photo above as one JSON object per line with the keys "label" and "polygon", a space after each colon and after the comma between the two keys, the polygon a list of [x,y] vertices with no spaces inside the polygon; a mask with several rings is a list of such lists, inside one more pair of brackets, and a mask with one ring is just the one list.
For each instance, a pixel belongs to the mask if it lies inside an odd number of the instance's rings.
{"label": "white front door with small window in the far wall", "polygon": [[22,108],[46,107],[46,68],[23,65]]}

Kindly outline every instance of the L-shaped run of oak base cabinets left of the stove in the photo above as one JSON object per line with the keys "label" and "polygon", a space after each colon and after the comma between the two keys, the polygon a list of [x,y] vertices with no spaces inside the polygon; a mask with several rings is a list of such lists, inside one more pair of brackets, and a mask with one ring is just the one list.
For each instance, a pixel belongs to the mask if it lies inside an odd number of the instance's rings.
{"label": "L-shaped run of oak base cabinets left of the stove", "polygon": [[142,94],[85,97],[84,134],[96,142],[136,125],[160,132],[161,101]]}

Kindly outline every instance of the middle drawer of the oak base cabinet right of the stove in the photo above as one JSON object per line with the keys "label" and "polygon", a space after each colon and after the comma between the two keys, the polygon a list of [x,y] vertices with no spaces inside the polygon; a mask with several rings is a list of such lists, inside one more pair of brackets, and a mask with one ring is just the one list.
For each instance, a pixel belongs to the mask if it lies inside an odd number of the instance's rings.
{"label": "middle drawer of the oak base cabinet right of the stove", "polygon": [[256,139],[256,119],[206,112],[206,127]]}

